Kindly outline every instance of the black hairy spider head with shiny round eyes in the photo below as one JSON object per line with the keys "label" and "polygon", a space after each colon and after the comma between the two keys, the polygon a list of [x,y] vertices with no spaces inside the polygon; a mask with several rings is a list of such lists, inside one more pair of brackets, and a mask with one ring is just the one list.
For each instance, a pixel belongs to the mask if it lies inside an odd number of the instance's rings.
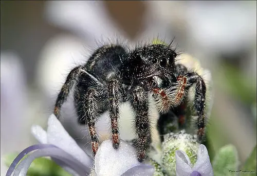
{"label": "black hairy spider head with shiny round eyes", "polygon": [[174,61],[177,54],[166,45],[136,48],[123,62],[125,79],[149,82],[158,87],[171,86],[174,79]]}

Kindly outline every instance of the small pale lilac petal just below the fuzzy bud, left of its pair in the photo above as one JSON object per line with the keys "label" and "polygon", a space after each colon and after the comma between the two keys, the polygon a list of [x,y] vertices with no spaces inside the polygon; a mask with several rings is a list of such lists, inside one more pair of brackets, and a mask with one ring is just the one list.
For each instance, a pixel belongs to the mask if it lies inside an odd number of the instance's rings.
{"label": "small pale lilac petal just below the fuzzy bud, left of its pair", "polygon": [[188,155],[182,150],[176,151],[176,175],[177,176],[185,176],[190,175],[193,171],[190,167],[191,162],[189,160]]}

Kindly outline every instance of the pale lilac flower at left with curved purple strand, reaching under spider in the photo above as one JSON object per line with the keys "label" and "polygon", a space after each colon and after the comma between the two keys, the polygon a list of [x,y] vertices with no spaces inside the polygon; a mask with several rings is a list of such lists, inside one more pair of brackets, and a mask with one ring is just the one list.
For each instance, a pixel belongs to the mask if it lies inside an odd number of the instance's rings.
{"label": "pale lilac flower at left with curved purple strand, reaching under spider", "polygon": [[[135,149],[125,141],[120,141],[120,147],[115,150],[111,140],[101,143],[95,160],[88,156],[72,139],[56,116],[48,119],[48,128],[45,131],[41,126],[32,126],[32,134],[42,144],[33,145],[20,153],[10,166],[7,176],[25,176],[30,164],[39,157],[51,157],[72,175],[153,175],[151,165],[139,163]],[[17,163],[29,152],[19,165]],[[16,166],[17,165],[17,166]],[[16,166],[16,168],[15,168]],[[15,168],[15,169],[14,169]]]}

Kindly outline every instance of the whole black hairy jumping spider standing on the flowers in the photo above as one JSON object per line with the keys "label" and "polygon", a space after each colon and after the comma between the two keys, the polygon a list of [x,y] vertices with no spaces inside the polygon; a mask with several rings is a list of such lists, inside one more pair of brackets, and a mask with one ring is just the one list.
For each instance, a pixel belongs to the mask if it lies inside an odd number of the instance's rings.
{"label": "whole black hairy jumping spider standing on the flowers", "polygon": [[129,102],[135,113],[135,148],[139,162],[145,160],[151,146],[149,96],[152,96],[161,116],[179,107],[187,91],[195,85],[194,109],[197,136],[205,135],[206,85],[195,72],[175,63],[177,53],[170,45],[146,45],[126,50],[120,45],[104,45],[87,63],[68,74],[58,95],[54,115],[60,118],[60,108],[75,85],[74,101],[81,124],[87,124],[93,157],[98,150],[96,120],[104,112],[111,119],[113,147],[119,147],[119,105]]}

